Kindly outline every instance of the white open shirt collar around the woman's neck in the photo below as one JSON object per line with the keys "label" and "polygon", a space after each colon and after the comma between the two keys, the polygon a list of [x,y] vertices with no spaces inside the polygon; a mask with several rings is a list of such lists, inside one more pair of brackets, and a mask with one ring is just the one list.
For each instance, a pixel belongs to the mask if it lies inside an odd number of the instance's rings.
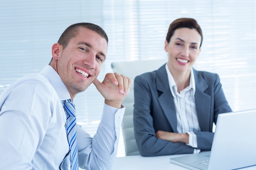
{"label": "white open shirt collar around the woman's neck", "polygon": [[[166,63],[165,65],[165,69],[166,69],[166,73],[167,73],[167,77],[168,77],[168,82],[169,82],[169,86],[171,89],[171,93],[173,95],[173,97],[175,97],[175,92],[174,90],[177,92],[177,85],[174,81],[173,75],[171,74],[171,71],[168,68],[168,63]],[[191,71],[190,71],[190,82],[189,82],[189,89],[192,88],[193,90],[193,95],[195,95],[195,77],[194,77],[194,72],[193,72],[193,68],[191,67]]]}

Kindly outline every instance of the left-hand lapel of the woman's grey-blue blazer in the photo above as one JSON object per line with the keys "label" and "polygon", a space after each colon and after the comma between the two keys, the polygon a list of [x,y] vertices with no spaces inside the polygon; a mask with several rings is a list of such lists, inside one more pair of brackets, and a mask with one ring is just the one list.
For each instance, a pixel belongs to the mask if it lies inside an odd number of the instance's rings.
{"label": "left-hand lapel of the woman's grey-blue blazer", "polygon": [[177,132],[177,116],[173,95],[171,94],[168,77],[165,69],[165,64],[156,72],[156,88],[159,94],[158,102],[161,106],[164,115],[169,121],[174,132]]}

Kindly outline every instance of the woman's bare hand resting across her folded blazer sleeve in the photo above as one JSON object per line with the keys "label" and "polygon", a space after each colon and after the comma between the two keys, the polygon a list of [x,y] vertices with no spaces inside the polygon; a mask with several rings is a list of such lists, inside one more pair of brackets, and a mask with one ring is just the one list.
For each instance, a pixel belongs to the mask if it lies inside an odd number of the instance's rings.
{"label": "woman's bare hand resting across her folded blazer sleeve", "polygon": [[183,142],[185,144],[189,143],[189,134],[187,133],[173,133],[173,132],[165,132],[162,130],[158,130],[155,134],[155,137],[164,139],[166,141]]}

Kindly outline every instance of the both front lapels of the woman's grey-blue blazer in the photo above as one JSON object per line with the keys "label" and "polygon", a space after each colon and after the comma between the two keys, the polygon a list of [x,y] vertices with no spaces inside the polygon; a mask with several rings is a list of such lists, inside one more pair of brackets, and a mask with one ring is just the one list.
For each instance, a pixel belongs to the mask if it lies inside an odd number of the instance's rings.
{"label": "both front lapels of the woman's grey-blue blazer", "polygon": [[[210,115],[212,114],[210,106],[211,96],[204,93],[208,88],[204,78],[198,73],[198,71],[195,71],[195,69],[193,69],[193,71],[195,77],[195,107],[198,114],[198,122],[200,124],[201,131],[209,131],[209,127],[212,127],[212,125],[209,125]],[[157,70],[156,76],[156,88],[159,93],[159,104],[173,131],[177,132],[177,115],[165,64]]]}

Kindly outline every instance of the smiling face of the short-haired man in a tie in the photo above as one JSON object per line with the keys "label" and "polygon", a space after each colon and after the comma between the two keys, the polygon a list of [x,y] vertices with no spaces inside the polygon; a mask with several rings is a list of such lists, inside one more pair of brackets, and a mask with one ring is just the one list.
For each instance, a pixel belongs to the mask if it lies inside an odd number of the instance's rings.
{"label": "smiling face of the short-haired man in a tie", "polygon": [[59,48],[57,72],[72,98],[97,78],[106,59],[108,44],[98,33],[79,28],[65,49]]}

